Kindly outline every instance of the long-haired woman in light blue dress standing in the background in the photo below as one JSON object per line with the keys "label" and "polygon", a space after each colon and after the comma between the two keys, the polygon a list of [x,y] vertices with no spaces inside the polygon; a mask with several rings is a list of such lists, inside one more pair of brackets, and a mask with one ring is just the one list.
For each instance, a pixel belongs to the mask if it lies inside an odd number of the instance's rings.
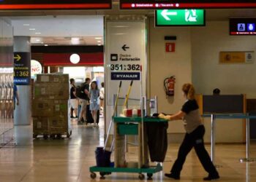
{"label": "long-haired woman in light blue dress standing in the background", "polygon": [[99,110],[99,103],[98,103],[98,98],[99,98],[99,88],[97,85],[97,82],[91,82],[91,90],[90,90],[90,110],[91,110],[91,115],[94,119],[94,126],[97,124],[97,111]]}

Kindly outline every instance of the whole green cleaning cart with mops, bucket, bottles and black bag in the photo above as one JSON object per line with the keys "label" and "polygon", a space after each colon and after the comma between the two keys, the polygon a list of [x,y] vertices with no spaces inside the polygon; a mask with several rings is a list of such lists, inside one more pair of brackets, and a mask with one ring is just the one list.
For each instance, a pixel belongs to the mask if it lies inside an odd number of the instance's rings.
{"label": "whole green cleaning cart with mops, bucket, bottles and black bag", "polygon": [[[146,97],[141,97],[138,101],[140,102],[140,109],[135,114],[134,110],[131,111],[128,108],[128,98],[129,92],[131,91],[132,82],[129,85],[129,90],[126,95],[124,105],[123,105],[123,113],[121,116],[117,116],[117,106],[118,106],[118,98],[119,92],[121,89],[121,82],[118,88],[118,94],[116,95],[114,110],[112,120],[110,122],[106,142],[104,148],[97,148],[96,151],[96,159],[97,166],[90,167],[91,178],[96,178],[96,172],[99,172],[101,178],[105,178],[105,175],[109,175],[111,173],[138,173],[138,177],[140,180],[145,178],[145,174],[148,178],[151,178],[154,173],[162,171],[162,165],[157,163],[157,165],[151,166],[149,165],[148,159],[148,149],[150,151],[151,161],[152,162],[163,162],[165,158],[165,153],[167,150],[167,133],[165,127],[165,140],[154,141],[155,138],[151,138],[151,131],[155,130],[155,127],[164,124],[167,126],[167,120],[159,119],[157,116],[146,116],[147,106],[154,106],[155,111],[157,111],[157,97],[155,97],[154,104],[147,104]],[[149,100],[150,103],[152,100]],[[135,109],[136,111],[136,109]],[[151,115],[151,114],[149,114]],[[153,125],[152,125],[153,124]],[[110,132],[110,128],[113,126],[113,141],[108,144],[110,147],[107,147],[108,136]],[[151,130],[150,130],[151,128]],[[147,134],[150,135],[147,135]],[[162,135],[164,132],[159,132],[159,135]],[[138,160],[135,162],[127,161],[127,138],[128,136],[134,136],[138,138]],[[154,135],[154,134],[153,134]],[[165,143],[165,147],[160,147],[162,149],[162,156],[158,157],[158,159],[154,159],[157,157],[161,151],[159,151],[158,146],[148,147],[152,142],[148,141],[148,136],[154,141],[155,144]],[[107,149],[108,148],[108,149]],[[114,161],[110,163],[110,154],[114,149]],[[152,157],[153,156],[153,157]],[[153,159],[152,159],[153,158]]]}

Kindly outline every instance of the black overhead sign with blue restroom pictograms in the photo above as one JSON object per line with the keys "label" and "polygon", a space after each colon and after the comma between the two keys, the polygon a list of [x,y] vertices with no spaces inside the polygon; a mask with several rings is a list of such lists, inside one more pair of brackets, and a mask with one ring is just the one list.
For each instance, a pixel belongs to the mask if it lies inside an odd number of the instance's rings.
{"label": "black overhead sign with blue restroom pictograms", "polygon": [[256,36],[256,18],[230,18],[230,35]]}

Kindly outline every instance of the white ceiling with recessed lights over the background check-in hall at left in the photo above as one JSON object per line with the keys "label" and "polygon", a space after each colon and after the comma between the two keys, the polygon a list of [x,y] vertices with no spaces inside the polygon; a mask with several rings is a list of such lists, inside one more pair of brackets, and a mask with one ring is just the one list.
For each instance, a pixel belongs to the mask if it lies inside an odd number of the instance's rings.
{"label": "white ceiling with recessed lights over the background check-in hall at left", "polygon": [[49,15],[9,18],[14,27],[14,36],[30,36],[31,44],[103,44],[102,15]]}

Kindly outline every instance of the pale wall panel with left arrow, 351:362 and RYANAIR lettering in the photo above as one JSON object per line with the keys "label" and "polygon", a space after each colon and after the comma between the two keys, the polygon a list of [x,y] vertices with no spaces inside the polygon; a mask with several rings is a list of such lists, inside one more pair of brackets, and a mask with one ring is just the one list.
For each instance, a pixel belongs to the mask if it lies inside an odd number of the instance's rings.
{"label": "pale wall panel with left arrow, 351:362 and RYANAIR lettering", "polygon": [[[133,81],[129,98],[140,100],[146,94],[146,23],[138,21],[108,21],[106,29],[105,79],[106,103],[113,104],[113,94],[121,85],[120,97],[124,97]],[[121,35],[120,35],[121,32]],[[145,93],[144,93],[145,92]],[[139,103],[139,102],[138,102]],[[111,107],[111,109],[113,106]]]}

